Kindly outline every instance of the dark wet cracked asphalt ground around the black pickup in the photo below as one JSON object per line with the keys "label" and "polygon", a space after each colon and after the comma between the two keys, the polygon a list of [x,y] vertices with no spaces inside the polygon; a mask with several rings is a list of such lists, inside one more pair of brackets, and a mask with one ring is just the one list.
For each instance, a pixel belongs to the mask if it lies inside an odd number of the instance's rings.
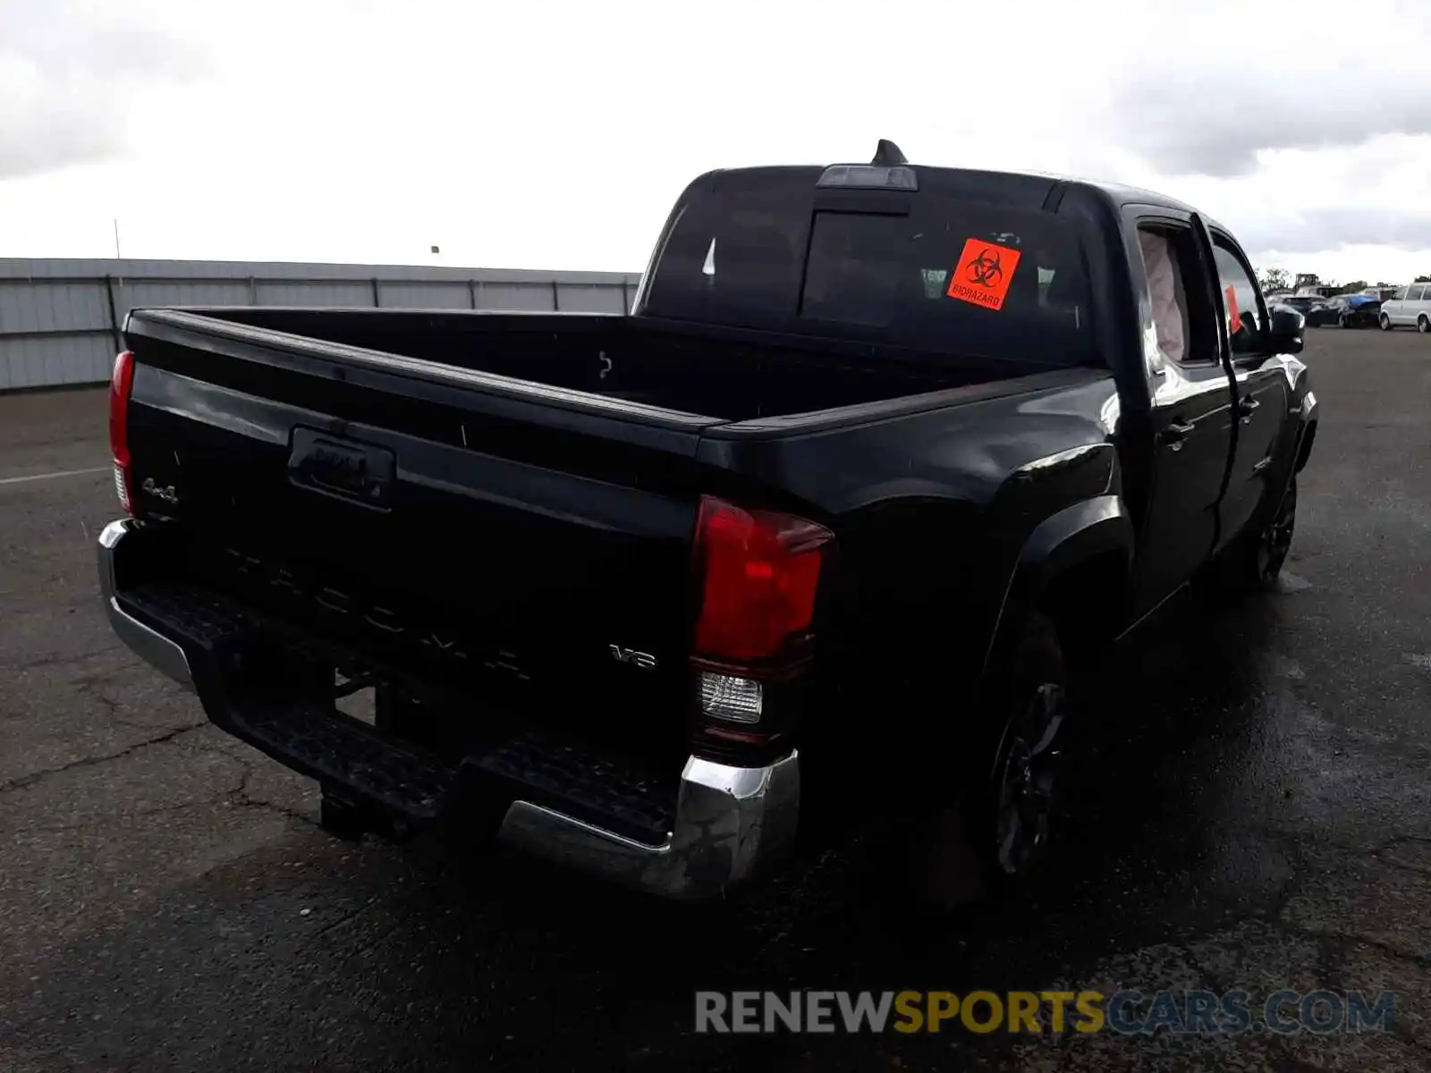
{"label": "dark wet cracked asphalt ground around the black pickup", "polygon": [[[1056,878],[940,924],[866,846],[714,910],[338,843],[312,787],[120,648],[97,391],[0,396],[0,1069],[1431,1067],[1431,343],[1309,333],[1282,591],[1118,655]],[[1394,990],[1395,1030],[701,1036],[693,990]]]}

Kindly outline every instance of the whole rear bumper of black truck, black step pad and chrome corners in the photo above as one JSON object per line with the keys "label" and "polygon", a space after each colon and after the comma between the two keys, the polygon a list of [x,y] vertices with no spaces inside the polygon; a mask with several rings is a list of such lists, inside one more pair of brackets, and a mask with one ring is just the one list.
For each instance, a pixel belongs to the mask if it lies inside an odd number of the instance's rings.
{"label": "whole rear bumper of black truck, black step pad and chrome corners", "polygon": [[422,827],[459,814],[469,797],[497,801],[498,841],[680,900],[718,897],[793,847],[793,753],[756,768],[690,757],[678,783],[660,785],[570,744],[532,738],[448,767],[321,704],[225,688],[225,668],[245,648],[242,611],[205,592],[127,584],[124,545],[142,536],[137,522],[122,519],[99,538],[100,591],[116,635],[197,692],[216,725],[365,808]]}

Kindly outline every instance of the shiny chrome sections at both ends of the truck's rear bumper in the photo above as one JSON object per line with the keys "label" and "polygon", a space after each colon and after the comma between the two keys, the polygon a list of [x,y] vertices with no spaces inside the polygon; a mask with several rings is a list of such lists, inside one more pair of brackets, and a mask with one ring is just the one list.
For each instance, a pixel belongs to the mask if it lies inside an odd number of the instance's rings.
{"label": "shiny chrome sections at both ends of the truck's rear bumper", "polygon": [[[99,581],[114,634],[140,658],[193,691],[189,657],[176,637],[140,622],[119,601],[116,575],[132,519],[99,536]],[[207,705],[206,705],[207,707]],[[282,761],[282,757],[280,757]],[[786,858],[800,818],[800,761],[794,753],[766,767],[731,767],[690,757],[681,771],[675,818],[664,843],[648,846],[524,801],[511,803],[499,841],[535,857],[667,898],[698,901]]]}

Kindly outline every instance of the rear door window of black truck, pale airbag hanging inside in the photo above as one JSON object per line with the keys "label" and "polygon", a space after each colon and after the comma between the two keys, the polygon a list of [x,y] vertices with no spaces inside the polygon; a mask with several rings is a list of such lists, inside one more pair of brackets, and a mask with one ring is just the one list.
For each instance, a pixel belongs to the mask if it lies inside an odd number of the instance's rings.
{"label": "rear door window of black truck, pale airbag hanging inside", "polygon": [[1139,225],[1138,248],[1162,356],[1182,365],[1216,363],[1216,326],[1209,320],[1192,230],[1175,225]]}

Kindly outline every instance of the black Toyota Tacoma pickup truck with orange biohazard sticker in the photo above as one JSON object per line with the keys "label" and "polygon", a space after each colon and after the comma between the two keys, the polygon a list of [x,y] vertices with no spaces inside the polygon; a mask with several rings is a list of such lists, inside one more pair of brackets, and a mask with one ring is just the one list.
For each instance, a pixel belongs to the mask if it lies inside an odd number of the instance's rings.
{"label": "black Toyota Tacoma pickup truck with orange biohazard sticker", "polygon": [[1079,661],[1195,578],[1275,579],[1318,419],[1302,318],[1211,219],[890,143],[695,179],[630,315],[124,340],[117,634],[335,833],[677,898],[886,805],[1026,874]]}

